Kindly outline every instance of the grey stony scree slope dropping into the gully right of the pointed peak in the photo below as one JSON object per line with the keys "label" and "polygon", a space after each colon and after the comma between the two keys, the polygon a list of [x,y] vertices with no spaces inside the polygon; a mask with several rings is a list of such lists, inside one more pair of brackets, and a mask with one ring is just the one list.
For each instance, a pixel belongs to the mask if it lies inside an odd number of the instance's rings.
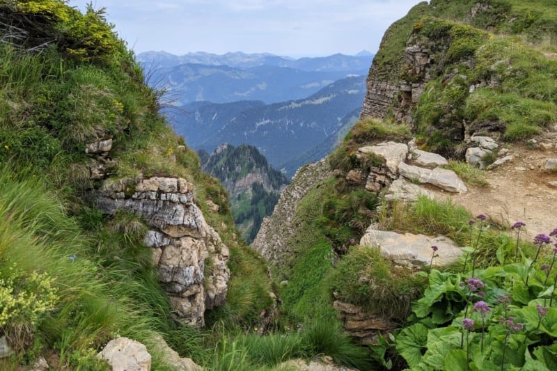
{"label": "grey stony scree slope dropping into the gully right of the pointed peak", "polygon": [[272,216],[263,220],[256,239],[251,244],[265,259],[280,264],[282,258],[290,255],[286,242],[294,235],[296,228],[294,216],[301,198],[308,191],[318,187],[332,173],[325,159],[301,167],[286,187],[274,208]]}

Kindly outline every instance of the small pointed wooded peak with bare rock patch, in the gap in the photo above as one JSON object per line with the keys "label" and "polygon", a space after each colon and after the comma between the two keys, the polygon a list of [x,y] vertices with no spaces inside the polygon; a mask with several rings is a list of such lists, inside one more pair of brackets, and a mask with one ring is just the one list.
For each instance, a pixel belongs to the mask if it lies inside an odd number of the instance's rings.
{"label": "small pointed wooded peak with bare rock patch, in the gap", "polygon": [[253,145],[219,145],[211,155],[200,151],[203,170],[217,177],[228,190],[236,226],[246,242],[257,235],[263,218],[274,205],[288,179],[272,168]]}

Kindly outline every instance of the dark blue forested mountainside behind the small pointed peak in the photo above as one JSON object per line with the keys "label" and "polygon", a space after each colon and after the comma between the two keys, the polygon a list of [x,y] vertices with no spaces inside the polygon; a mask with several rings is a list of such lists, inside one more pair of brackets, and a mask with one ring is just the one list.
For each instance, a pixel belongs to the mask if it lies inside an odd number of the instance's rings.
{"label": "dark blue forested mountainside behind the small pointed peak", "polygon": [[[365,76],[347,77],[304,100],[268,105],[189,104],[184,107],[187,115],[175,116],[175,131],[184,135],[191,147],[207,152],[225,142],[250,143],[272,166],[285,168],[291,176],[302,158],[304,162],[315,161],[331,149],[339,130],[361,107],[365,80]],[[316,145],[322,149],[315,149]]]}

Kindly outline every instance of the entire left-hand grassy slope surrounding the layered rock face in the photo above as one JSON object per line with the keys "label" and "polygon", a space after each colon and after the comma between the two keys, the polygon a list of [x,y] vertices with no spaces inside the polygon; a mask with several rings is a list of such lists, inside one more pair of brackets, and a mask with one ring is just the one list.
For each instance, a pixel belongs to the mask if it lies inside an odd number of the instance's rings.
{"label": "entire left-hand grassy slope surrounding the layered rock face", "polygon": [[[108,220],[88,202],[88,190],[99,184],[89,179],[84,143],[113,137],[115,177],[171,175],[194,183],[196,202],[230,248],[228,302],[210,320],[249,326],[270,305],[270,289],[264,262],[237,242],[226,191],[201,172],[193,151],[180,149],[183,140],[159,116],[160,92],[144,84],[102,12],[81,15],[54,0],[0,1],[0,9],[0,32],[11,41],[0,45],[0,271],[9,278],[14,264],[22,270],[17,280],[26,288],[9,291],[11,297],[38,290],[31,285],[35,271],[54,278],[57,290],[48,310],[22,302],[19,315],[0,322],[0,333],[15,333],[11,340],[22,345],[2,368],[51,351],[70,368],[102,368],[94,355],[114,336],[151,348],[155,333],[180,354],[213,363],[214,336],[171,319],[141,245],[143,222],[127,214]],[[29,37],[19,39],[24,31]],[[56,42],[33,49],[44,40]],[[207,199],[220,206],[218,214],[208,213]],[[22,328],[29,331],[16,331]],[[163,369],[153,355],[153,367]]]}

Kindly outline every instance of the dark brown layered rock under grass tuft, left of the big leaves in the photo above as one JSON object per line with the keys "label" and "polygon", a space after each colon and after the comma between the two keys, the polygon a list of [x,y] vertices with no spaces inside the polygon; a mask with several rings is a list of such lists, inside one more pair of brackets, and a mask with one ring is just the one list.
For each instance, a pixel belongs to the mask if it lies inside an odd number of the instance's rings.
{"label": "dark brown layered rock under grass tuft, left of the big leaves", "polygon": [[380,313],[368,310],[343,301],[335,301],[333,306],[338,310],[338,318],[345,331],[360,344],[368,345],[377,341],[380,333],[397,328],[397,324]]}

